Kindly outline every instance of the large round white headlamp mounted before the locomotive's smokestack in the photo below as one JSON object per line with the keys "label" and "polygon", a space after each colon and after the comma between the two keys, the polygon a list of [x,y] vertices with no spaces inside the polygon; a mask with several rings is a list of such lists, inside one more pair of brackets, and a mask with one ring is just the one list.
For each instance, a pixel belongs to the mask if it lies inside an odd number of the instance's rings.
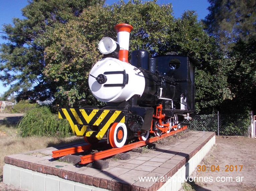
{"label": "large round white headlamp mounted before the locomotive's smokestack", "polygon": [[112,38],[109,38],[109,37],[102,38],[99,43],[99,51],[102,54],[110,54],[110,53],[118,54],[119,49],[120,47],[118,42],[114,41]]}

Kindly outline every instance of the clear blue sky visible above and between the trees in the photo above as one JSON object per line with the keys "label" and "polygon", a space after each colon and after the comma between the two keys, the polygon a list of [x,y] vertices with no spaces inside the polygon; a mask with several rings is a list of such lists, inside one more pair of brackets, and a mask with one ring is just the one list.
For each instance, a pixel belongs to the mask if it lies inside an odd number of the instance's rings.
{"label": "clear blue sky visible above and between the trees", "polygon": [[[106,4],[111,5],[118,0],[106,0]],[[128,0],[125,0],[127,2]],[[174,11],[174,16],[180,17],[186,10],[194,10],[198,14],[198,19],[204,19],[209,11],[209,2],[207,0],[157,0],[158,4],[171,3]],[[0,0],[0,32],[2,32],[3,24],[12,24],[12,19],[15,17],[22,18],[21,9],[27,5],[27,0]],[[2,36],[2,34],[0,34]],[[0,38],[0,44],[4,43]],[[8,90],[0,82],[0,95]]]}

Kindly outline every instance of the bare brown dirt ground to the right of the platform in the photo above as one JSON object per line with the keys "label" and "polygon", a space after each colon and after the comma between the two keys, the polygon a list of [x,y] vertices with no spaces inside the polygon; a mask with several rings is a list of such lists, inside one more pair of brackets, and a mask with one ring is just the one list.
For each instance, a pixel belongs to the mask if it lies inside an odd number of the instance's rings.
{"label": "bare brown dirt ground to the right of the platform", "polygon": [[256,139],[216,136],[216,144],[199,165],[201,170],[195,170],[191,176],[212,177],[213,181],[205,178],[206,181],[193,182],[197,191],[256,190]]}

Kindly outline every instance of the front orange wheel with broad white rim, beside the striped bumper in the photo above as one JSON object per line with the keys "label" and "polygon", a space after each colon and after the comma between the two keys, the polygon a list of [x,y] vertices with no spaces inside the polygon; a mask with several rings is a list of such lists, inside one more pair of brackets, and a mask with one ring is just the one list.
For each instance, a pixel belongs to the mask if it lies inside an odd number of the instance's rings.
{"label": "front orange wheel with broad white rim, beside the striped bumper", "polygon": [[124,123],[114,123],[109,130],[109,143],[115,147],[122,147],[127,138],[127,128]]}

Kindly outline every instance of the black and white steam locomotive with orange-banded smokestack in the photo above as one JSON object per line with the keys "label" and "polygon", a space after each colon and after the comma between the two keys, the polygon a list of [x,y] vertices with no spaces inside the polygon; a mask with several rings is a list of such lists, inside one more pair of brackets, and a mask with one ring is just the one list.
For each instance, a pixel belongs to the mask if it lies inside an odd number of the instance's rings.
{"label": "black and white steam locomotive with orange-banded smokestack", "polygon": [[146,140],[187,125],[195,113],[195,64],[188,56],[170,53],[150,57],[137,47],[128,62],[129,36],[133,27],[114,27],[117,42],[104,37],[104,54],[89,75],[92,94],[106,106],[59,108],[59,118],[68,119],[73,133],[94,144],[107,140],[122,147],[127,139]]}

